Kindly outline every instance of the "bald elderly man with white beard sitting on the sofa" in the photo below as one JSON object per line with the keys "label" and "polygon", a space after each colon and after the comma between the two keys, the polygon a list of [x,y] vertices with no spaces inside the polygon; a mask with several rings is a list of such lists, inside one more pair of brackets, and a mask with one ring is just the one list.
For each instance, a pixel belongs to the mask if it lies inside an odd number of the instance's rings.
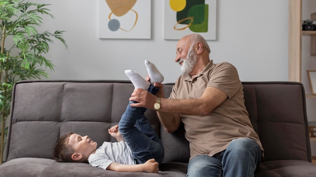
{"label": "bald elderly man with white beard sitting on the sofa", "polygon": [[131,106],[157,111],[169,133],[183,122],[190,144],[187,176],[253,176],[264,149],[249,120],[237,69],[214,63],[209,53],[202,36],[181,38],[175,61],[183,74],[170,97],[164,99],[163,89],[156,96],[136,89],[130,100],[138,103]]}

